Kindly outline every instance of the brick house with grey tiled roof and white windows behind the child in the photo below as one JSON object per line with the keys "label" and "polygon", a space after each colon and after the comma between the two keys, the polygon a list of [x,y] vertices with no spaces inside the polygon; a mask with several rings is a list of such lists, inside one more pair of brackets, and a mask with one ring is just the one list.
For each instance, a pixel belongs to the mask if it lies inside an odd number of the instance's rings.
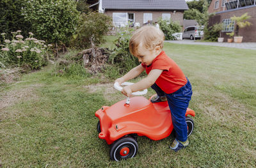
{"label": "brick house with grey tiled roof and white windows behind the child", "polygon": [[179,21],[183,26],[183,13],[188,10],[185,0],[102,0],[102,10],[113,18],[115,26],[134,27],[150,24],[159,19]]}

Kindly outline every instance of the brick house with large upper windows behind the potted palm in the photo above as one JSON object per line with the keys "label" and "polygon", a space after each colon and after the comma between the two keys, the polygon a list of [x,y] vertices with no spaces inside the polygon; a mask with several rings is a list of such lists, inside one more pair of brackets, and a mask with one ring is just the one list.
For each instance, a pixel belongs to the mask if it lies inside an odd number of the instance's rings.
{"label": "brick house with large upper windows behind the potted palm", "polygon": [[[234,22],[230,19],[234,15],[240,17],[244,13],[251,16],[248,22],[252,25],[239,30],[239,34],[243,36],[243,42],[256,42],[256,0],[212,0],[208,8],[209,13],[215,13],[209,19],[209,25],[223,22],[223,30],[221,37],[227,41],[226,33],[234,31]],[[232,22],[232,24],[230,24]],[[231,25],[231,26],[229,26]]]}

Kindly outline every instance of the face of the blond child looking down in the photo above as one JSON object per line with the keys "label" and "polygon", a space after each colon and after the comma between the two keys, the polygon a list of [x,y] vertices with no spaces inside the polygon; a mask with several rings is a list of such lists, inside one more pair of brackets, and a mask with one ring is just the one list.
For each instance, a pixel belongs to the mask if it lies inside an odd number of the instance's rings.
{"label": "face of the blond child looking down", "polygon": [[157,46],[154,50],[148,50],[145,49],[142,45],[138,46],[138,51],[136,53],[136,57],[138,57],[138,60],[145,64],[150,65],[152,61],[158,56],[158,54],[161,52],[161,49],[159,46]]}

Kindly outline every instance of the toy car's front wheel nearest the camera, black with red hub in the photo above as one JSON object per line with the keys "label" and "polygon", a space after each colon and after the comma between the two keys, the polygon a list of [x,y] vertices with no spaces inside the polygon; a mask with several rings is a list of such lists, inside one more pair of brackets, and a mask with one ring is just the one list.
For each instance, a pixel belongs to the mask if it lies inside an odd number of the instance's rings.
{"label": "toy car's front wheel nearest the camera, black with red hub", "polygon": [[132,137],[118,139],[111,145],[111,160],[119,161],[126,158],[132,158],[137,154],[138,143]]}

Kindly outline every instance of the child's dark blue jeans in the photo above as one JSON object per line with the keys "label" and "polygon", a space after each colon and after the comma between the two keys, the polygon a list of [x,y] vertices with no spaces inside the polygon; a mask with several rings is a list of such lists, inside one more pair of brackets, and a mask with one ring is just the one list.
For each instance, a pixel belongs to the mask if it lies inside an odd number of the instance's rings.
{"label": "child's dark blue jeans", "polygon": [[172,114],[172,124],[176,132],[176,138],[182,142],[186,141],[188,139],[188,126],[185,114],[192,96],[192,88],[189,80],[179,90],[170,94],[164,93],[156,83],[151,88],[156,91],[158,96],[166,96]]}

